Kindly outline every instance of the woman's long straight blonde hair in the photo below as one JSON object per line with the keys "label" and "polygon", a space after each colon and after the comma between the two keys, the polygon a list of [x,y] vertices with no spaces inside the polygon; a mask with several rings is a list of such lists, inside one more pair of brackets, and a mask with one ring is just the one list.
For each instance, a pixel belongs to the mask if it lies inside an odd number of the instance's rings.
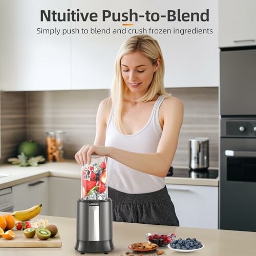
{"label": "woman's long straight blonde hair", "polygon": [[160,58],[160,66],[157,71],[154,72],[152,82],[146,93],[139,98],[138,102],[147,102],[152,100],[157,94],[169,95],[164,90],[163,76],[164,76],[164,61],[162,51],[159,47],[157,40],[149,35],[135,35],[128,38],[123,42],[115,61],[115,74],[110,90],[112,104],[114,106],[114,120],[117,129],[124,131],[122,126],[122,114],[123,114],[123,95],[128,90],[121,73],[121,58],[129,53],[139,51],[145,56],[150,58],[152,65],[155,66],[157,59]]}

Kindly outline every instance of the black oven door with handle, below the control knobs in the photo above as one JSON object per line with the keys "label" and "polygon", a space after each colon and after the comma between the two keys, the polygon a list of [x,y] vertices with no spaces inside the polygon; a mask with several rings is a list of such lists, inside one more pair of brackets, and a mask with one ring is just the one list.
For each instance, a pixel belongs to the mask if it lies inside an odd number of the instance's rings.
{"label": "black oven door with handle, below the control knobs", "polygon": [[220,229],[256,231],[256,139],[221,138]]}

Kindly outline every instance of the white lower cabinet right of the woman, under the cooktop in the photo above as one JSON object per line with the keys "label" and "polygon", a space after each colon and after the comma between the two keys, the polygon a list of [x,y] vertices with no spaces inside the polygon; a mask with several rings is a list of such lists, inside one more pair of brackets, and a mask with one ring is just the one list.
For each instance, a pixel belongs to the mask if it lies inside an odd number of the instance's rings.
{"label": "white lower cabinet right of the woman, under the cooktop", "polygon": [[218,229],[218,187],[167,184],[181,227]]}

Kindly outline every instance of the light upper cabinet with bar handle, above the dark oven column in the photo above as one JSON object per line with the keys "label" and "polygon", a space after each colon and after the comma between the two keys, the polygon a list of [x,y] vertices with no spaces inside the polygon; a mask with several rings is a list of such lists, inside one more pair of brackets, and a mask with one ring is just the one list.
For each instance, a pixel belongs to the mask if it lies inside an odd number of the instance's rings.
{"label": "light upper cabinet with bar handle, above the dark oven column", "polygon": [[256,45],[255,10],[255,0],[219,0],[219,47]]}

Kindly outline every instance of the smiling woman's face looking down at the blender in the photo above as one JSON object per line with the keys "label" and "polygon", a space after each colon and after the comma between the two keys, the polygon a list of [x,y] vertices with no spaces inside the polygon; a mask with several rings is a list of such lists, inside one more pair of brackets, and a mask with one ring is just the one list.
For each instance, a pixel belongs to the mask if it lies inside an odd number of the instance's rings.
{"label": "smiling woman's face looking down at the blender", "polygon": [[126,86],[131,92],[145,93],[151,84],[154,72],[159,68],[160,59],[156,65],[143,53],[136,51],[121,58],[121,72]]}

